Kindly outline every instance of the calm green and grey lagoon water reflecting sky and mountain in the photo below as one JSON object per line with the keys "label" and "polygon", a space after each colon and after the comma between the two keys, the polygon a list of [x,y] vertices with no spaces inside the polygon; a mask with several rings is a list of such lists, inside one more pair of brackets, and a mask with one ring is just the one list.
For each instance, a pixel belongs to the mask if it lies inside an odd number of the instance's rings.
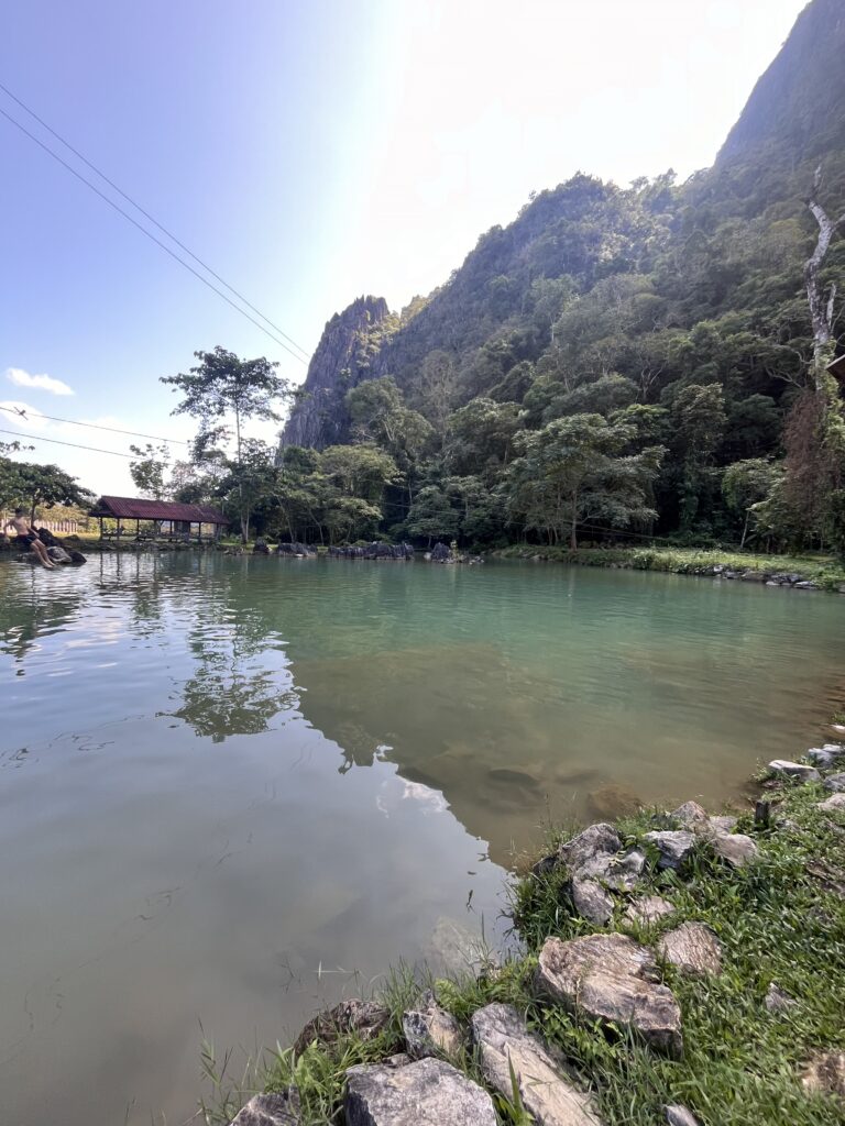
{"label": "calm green and grey lagoon water reflecting sky and mountain", "polygon": [[174,1126],[203,1036],[284,1042],[456,927],[501,941],[550,816],[719,804],[810,745],[844,626],[530,563],[0,564],[3,1123]]}

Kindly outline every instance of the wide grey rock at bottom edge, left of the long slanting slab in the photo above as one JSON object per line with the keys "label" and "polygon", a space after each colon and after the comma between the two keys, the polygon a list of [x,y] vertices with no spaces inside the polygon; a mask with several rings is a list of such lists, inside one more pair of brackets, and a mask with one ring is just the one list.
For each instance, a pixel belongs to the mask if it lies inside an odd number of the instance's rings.
{"label": "wide grey rock at bottom edge, left of the long slanting slab", "polygon": [[346,1126],[497,1126],[492,1099],[442,1060],[350,1067]]}

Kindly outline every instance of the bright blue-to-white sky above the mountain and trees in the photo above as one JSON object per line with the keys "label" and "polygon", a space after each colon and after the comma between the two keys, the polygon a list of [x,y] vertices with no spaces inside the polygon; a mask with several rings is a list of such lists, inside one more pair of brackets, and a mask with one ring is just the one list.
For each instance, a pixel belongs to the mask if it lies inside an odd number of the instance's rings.
{"label": "bright blue-to-white sky above the mountain and trees", "polygon": [[[0,82],[310,352],[356,295],[399,309],[445,280],[532,190],[709,164],[802,7],[27,0],[0,15]],[[94,176],[2,91],[0,109]],[[158,377],[195,349],[304,377],[2,116],[0,159],[0,404],[187,439]],[[26,456],[134,491],[118,457]]]}

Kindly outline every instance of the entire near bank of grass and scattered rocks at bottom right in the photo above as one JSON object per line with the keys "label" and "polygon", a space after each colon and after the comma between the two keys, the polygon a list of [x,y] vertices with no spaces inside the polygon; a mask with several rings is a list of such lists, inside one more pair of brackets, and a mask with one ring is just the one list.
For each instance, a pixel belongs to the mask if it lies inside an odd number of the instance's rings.
{"label": "entire near bank of grass and scattered rocks at bottom right", "polygon": [[842,1126],[845,745],[758,783],[754,813],[553,834],[510,888],[519,955],[394,974],[268,1056],[264,1093],[219,1080],[206,1120]]}

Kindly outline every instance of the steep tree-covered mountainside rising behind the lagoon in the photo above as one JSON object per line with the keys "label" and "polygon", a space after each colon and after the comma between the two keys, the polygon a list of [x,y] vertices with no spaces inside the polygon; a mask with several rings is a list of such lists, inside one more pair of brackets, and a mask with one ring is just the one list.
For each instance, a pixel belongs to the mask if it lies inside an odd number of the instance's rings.
{"label": "steep tree-covered mountainside rising behind the lagoon", "polygon": [[813,0],[713,168],[579,173],[400,314],[367,297],[332,318],[279,450],[282,529],[842,547],[824,369],[845,239],[818,240],[845,213],[844,52],[840,0]]}

